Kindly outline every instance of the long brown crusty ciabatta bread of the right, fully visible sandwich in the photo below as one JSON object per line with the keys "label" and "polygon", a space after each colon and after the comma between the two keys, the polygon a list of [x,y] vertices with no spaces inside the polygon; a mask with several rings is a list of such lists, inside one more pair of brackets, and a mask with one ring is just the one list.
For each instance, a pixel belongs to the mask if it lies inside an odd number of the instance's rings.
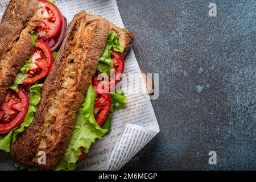
{"label": "long brown crusty ciabatta bread of the right, fully visible sandwich", "polygon": [[[81,11],[69,23],[59,55],[44,82],[35,119],[11,146],[15,160],[42,170],[55,169],[112,30],[120,36],[126,53],[133,34],[101,16]],[[40,151],[46,152],[46,164],[38,164]]]}

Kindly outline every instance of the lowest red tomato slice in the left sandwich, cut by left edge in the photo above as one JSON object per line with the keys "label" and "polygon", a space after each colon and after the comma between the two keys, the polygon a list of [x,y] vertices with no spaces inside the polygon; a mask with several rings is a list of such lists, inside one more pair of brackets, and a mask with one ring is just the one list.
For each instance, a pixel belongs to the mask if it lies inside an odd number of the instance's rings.
{"label": "lowest red tomato slice in the left sandwich, cut by left edge", "polygon": [[0,104],[0,134],[6,134],[23,122],[28,109],[28,96],[19,86],[19,92],[9,89]]}

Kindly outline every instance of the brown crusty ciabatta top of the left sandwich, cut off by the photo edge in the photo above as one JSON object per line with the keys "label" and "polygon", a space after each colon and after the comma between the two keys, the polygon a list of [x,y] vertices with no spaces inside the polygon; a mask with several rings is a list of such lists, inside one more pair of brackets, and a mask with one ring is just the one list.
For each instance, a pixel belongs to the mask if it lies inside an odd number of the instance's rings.
{"label": "brown crusty ciabatta top of the left sandwich, cut off by the photo edge", "polygon": [[31,55],[31,32],[39,22],[37,0],[11,0],[0,24],[0,103]]}

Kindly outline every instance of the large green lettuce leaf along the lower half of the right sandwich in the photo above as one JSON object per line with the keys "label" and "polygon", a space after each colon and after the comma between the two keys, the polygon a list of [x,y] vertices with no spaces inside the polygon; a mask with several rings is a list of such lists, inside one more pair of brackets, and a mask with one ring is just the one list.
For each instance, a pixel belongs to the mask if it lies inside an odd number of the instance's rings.
{"label": "large green lettuce leaf along the lower half of the right sandwich", "polygon": [[88,153],[89,147],[95,140],[101,139],[108,132],[107,129],[102,129],[98,126],[94,118],[93,106],[95,98],[96,93],[92,85],[90,85],[86,93],[85,102],[76,115],[72,137],[56,170],[74,170],[76,168],[76,162],[82,154],[80,147],[84,147],[84,152]]}

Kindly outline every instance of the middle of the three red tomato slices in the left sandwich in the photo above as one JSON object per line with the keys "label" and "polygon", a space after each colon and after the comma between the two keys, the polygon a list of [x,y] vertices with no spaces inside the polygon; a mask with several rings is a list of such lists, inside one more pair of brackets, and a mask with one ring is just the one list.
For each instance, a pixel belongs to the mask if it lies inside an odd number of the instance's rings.
{"label": "middle of the three red tomato slices in the left sandwich", "polygon": [[33,65],[28,69],[27,78],[24,80],[23,85],[32,85],[36,81],[46,77],[52,68],[53,57],[51,49],[46,43],[40,40],[36,42],[38,43],[38,47],[33,50]]}

